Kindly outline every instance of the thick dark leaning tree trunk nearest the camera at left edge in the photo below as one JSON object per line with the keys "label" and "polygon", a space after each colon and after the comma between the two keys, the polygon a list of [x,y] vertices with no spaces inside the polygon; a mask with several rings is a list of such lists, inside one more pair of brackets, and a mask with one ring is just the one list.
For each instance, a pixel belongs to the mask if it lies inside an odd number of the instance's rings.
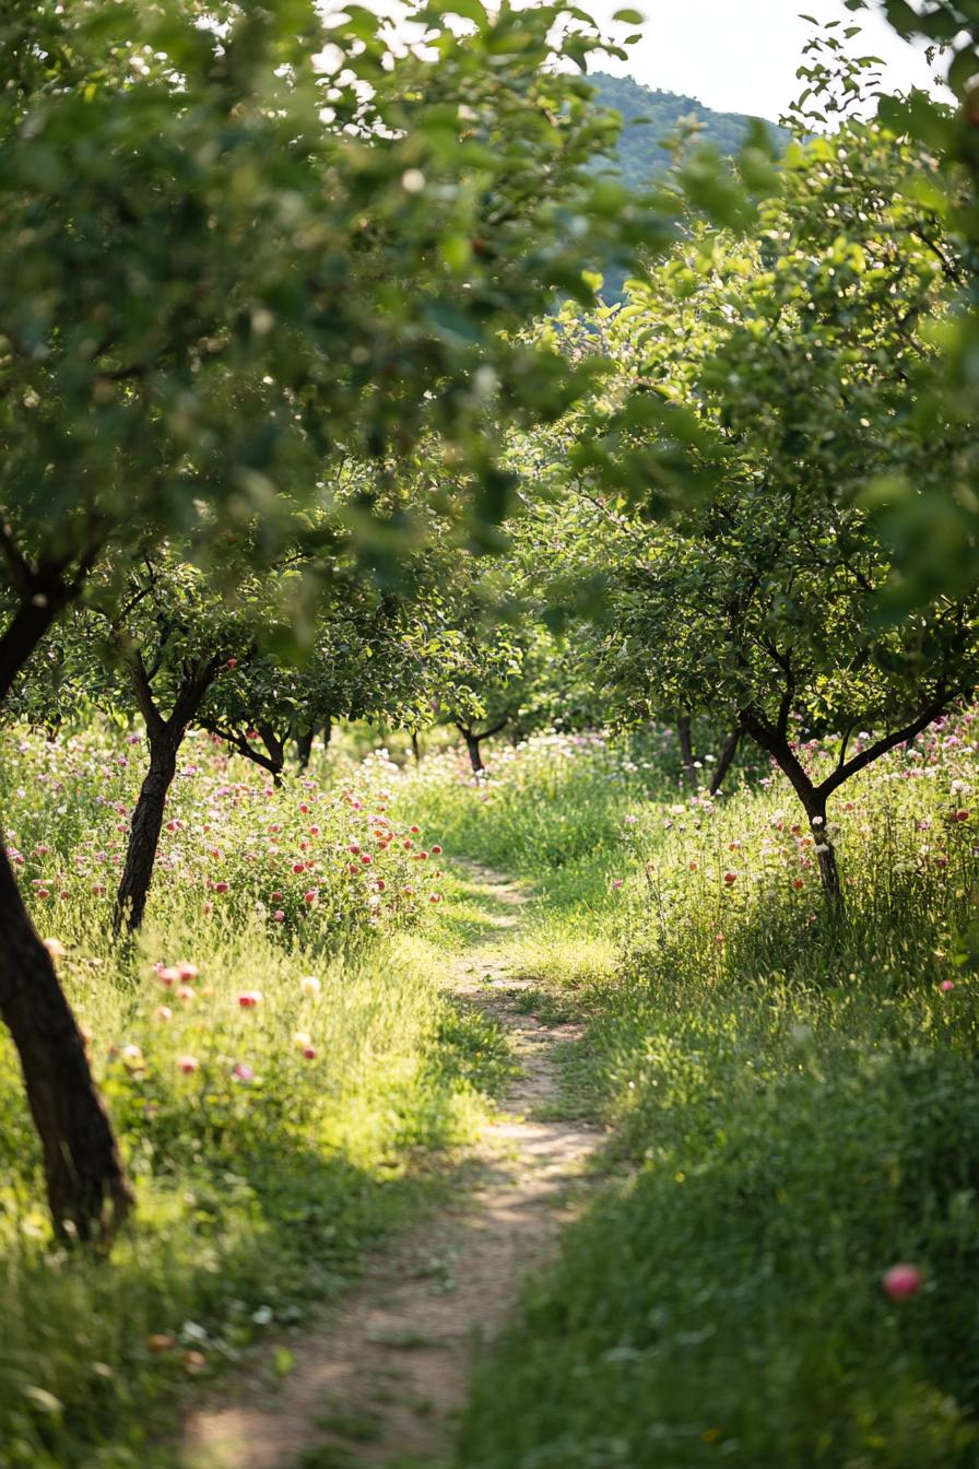
{"label": "thick dark leaning tree trunk nearest the camera at left edge", "polygon": [[85,1044],[0,848],[0,1015],[21,1058],[59,1234],[109,1243],[132,1194]]}

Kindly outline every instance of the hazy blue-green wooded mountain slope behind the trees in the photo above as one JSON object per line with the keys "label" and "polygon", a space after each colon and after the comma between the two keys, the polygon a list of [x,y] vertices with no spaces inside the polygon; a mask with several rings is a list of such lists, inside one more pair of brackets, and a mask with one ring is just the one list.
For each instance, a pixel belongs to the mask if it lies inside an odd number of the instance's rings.
{"label": "hazy blue-green wooded mountain slope behind the trees", "polygon": [[[619,141],[619,167],[624,181],[633,188],[649,184],[655,173],[662,173],[669,163],[668,153],[659,145],[663,138],[675,134],[683,118],[696,118],[702,123],[702,138],[712,142],[719,153],[729,156],[738,151],[749,118],[738,112],[713,112],[694,97],[677,93],[653,91],[631,76],[609,76],[608,72],[593,72],[589,81],[605,107],[622,113],[624,128]],[[647,118],[646,123],[636,123]],[[771,123],[776,137],[788,141],[788,134]]]}

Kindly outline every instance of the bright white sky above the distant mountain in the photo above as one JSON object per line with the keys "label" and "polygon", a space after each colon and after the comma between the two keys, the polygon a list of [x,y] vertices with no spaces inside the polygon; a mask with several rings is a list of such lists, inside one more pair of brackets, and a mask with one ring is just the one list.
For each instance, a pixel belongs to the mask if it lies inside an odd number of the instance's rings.
{"label": "bright white sky above the distant mountain", "polygon": [[[862,25],[863,34],[853,44],[859,54],[881,57],[889,91],[929,85],[920,51],[901,41],[879,15],[854,15],[842,0],[584,0],[583,9],[608,22],[627,4],[647,18],[643,40],[628,62],[609,62],[603,69],[696,97],[719,112],[778,120],[803,85],[796,68],[812,26],[800,12]],[[619,34],[636,29],[618,28]]]}

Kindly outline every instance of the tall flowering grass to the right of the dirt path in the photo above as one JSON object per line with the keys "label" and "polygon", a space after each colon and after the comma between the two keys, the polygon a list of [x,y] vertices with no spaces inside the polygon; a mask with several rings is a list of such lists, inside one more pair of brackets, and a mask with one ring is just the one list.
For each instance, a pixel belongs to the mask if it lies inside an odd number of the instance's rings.
{"label": "tall flowering grass to the right of the dirt path", "polygon": [[[589,1019],[567,1081],[628,1178],[486,1356],[465,1469],[979,1462],[970,721],[838,802],[842,925],[763,780],[614,802],[621,949],[564,992]],[[898,1262],[923,1282],[901,1302]]]}

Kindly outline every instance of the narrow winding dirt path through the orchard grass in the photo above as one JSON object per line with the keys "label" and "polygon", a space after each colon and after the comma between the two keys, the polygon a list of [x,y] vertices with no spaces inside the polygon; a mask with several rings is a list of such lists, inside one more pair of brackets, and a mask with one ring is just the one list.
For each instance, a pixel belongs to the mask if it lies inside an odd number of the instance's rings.
{"label": "narrow winding dirt path through the orchard grass", "polygon": [[188,1469],[436,1469],[478,1340],[502,1325],[521,1277],[569,1215],[568,1187],[600,1133],[534,1112],[556,1100],[553,1049],[577,1027],[515,1009],[506,942],[524,898],[486,868],[470,871],[499,912],[452,990],[509,1030],[521,1066],[484,1131],[477,1187],[379,1253],[355,1290],[289,1340],[295,1368],[280,1387],[255,1374],[238,1381],[233,1401],[197,1412],[183,1437]]}

